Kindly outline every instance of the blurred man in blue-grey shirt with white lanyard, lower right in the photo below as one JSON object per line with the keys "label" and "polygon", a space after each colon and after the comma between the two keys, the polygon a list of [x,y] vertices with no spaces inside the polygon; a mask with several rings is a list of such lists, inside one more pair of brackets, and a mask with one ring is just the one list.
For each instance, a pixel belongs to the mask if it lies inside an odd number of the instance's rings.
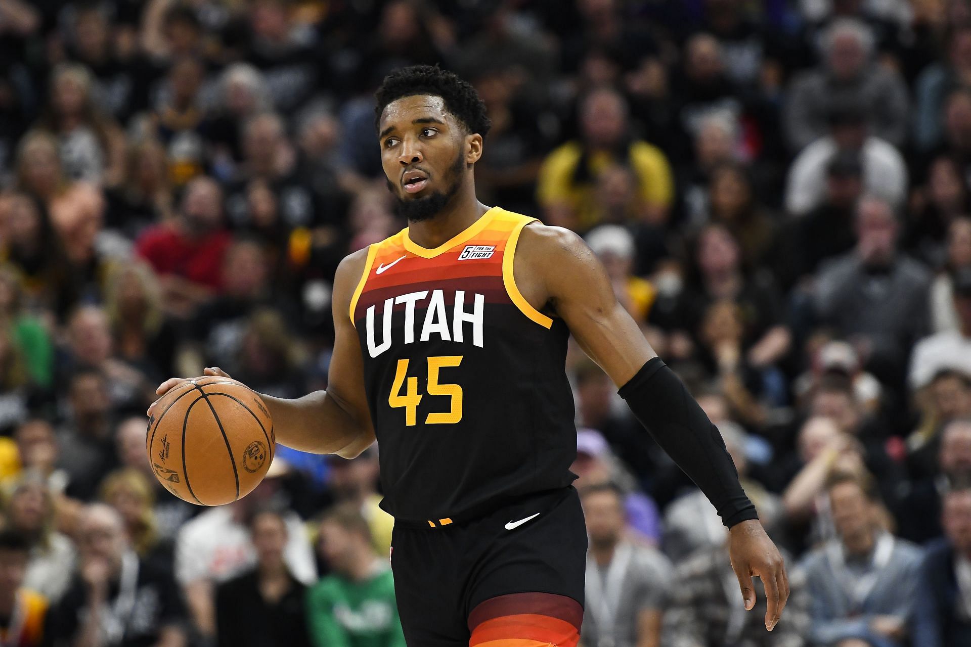
{"label": "blurred man in blue-grey shirt with white lanyard, lower right", "polygon": [[858,476],[832,475],[826,496],[837,538],[802,564],[812,598],[810,638],[820,645],[927,644],[928,627],[914,622],[917,599],[926,594],[919,589],[920,549],[881,528],[877,495]]}

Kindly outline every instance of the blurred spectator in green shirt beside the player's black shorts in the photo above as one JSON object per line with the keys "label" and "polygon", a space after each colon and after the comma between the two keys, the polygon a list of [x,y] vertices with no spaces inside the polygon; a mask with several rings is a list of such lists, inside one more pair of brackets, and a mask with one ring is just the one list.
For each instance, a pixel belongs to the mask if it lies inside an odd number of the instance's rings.
{"label": "blurred spectator in green shirt beside the player's black shorts", "polygon": [[320,554],[331,574],[307,597],[312,642],[317,647],[405,647],[391,569],[375,553],[360,511],[331,508],[319,533]]}

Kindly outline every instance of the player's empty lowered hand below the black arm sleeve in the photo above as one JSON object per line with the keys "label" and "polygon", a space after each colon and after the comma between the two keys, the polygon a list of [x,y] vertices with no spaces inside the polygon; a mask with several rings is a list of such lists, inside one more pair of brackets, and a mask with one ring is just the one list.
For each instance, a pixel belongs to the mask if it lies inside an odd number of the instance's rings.
{"label": "player's empty lowered hand below the black arm sleeve", "polygon": [[752,578],[757,576],[765,588],[765,629],[772,631],[782,618],[789,594],[783,556],[756,519],[735,524],[728,534],[728,555],[742,588],[745,608],[752,610],[755,605]]}

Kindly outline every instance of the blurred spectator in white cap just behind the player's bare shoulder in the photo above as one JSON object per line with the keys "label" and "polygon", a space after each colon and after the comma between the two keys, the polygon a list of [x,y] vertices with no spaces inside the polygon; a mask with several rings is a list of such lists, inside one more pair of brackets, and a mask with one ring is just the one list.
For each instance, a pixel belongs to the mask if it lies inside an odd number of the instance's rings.
{"label": "blurred spectator in white cap just behind the player's bare shoulder", "polygon": [[643,326],[656,291],[650,281],[633,275],[636,260],[633,235],[620,225],[600,225],[586,235],[586,244],[603,263],[620,304]]}

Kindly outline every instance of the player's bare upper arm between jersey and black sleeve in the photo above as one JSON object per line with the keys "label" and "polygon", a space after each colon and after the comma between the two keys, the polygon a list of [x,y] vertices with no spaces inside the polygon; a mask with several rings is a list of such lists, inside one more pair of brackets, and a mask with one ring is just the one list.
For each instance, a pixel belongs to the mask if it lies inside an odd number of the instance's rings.
{"label": "player's bare upper arm between jersey and black sleeve", "polygon": [[550,305],[586,354],[615,384],[625,384],[655,353],[617,300],[603,265],[569,230],[537,227],[530,238],[537,252],[531,270],[542,276]]}

